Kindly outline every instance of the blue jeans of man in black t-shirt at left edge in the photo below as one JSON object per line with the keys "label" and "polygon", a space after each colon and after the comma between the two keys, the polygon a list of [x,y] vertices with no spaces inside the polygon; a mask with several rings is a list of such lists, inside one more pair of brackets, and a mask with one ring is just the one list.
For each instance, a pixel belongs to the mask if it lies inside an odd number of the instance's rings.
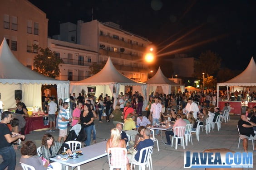
{"label": "blue jeans of man in black t-shirt at left edge", "polygon": [[0,155],[3,157],[3,162],[0,164],[0,170],[4,170],[8,166],[8,170],[15,170],[16,153],[12,146],[0,148]]}

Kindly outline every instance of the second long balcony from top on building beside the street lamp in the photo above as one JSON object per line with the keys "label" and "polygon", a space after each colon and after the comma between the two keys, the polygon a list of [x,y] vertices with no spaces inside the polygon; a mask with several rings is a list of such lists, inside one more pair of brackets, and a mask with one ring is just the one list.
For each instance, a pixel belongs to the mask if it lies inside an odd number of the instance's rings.
{"label": "second long balcony from top on building beside the street lamp", "polygon": [[131,55],[125,52],[114,52],[110,51],[107,48],[101,48],[99,49],[99,55],[103,56],[110,56],[110,57],[116,57],[116,58],[121,58],[121,59],[127,59],[127,60],[138,60],[142,57]]}

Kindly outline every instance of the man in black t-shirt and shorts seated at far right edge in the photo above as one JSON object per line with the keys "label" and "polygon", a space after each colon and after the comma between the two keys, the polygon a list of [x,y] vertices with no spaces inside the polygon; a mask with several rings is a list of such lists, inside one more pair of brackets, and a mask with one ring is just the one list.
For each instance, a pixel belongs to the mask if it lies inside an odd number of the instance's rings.
{"label": "man in black t-shirt and shorts seated at far right edge", "polygon": [[[241,119],[238,121],[239,135],[243,140],[244,151],[247,152],[248,139],[256,140],[256,134],[253,131],[253,126],[256,126],[256,124],[249,121],[244,113],[240,115],[240,118]],[[254,151],[256,151],[256,146],[254,146]]]}

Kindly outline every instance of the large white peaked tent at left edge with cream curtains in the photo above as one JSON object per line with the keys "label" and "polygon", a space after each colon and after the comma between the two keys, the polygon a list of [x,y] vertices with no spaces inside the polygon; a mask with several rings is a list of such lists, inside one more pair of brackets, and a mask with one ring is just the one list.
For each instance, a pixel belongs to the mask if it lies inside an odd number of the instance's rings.
{"label": "large white peaked tent at left edge with cream curtains", "polygon": [[69,81],[43,76],[22,65],[4,38],[0,46],[0,93],[4,109],[15,107],[14,90],[22,90],[22,101],[28,107],[41,107],[42,85],[54,84],[57,85],[58,99],[69,98]]}

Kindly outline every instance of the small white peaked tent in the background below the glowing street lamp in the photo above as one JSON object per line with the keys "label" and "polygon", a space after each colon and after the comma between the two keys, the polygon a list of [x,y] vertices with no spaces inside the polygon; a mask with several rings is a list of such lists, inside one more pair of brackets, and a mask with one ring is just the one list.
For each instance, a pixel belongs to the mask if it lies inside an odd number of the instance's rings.
{"label": "small white peaked tent in the background below the glowing street lamp", "polygon": [[[162,91],[164,94],[171,94],[172,86],[176,88],[179,86],[181,88],[182,93],[185,90],[185,85],[179,85],[174,81],[168,79],[166,76],[163,75],[161,68],[158,68],[157,73],[149,80],[145,81],[147,83],[147,92],[150,93],[151,91],[156,91],[158,86],[162,87]],[[149,94],[147,94],[149,96]]]}

